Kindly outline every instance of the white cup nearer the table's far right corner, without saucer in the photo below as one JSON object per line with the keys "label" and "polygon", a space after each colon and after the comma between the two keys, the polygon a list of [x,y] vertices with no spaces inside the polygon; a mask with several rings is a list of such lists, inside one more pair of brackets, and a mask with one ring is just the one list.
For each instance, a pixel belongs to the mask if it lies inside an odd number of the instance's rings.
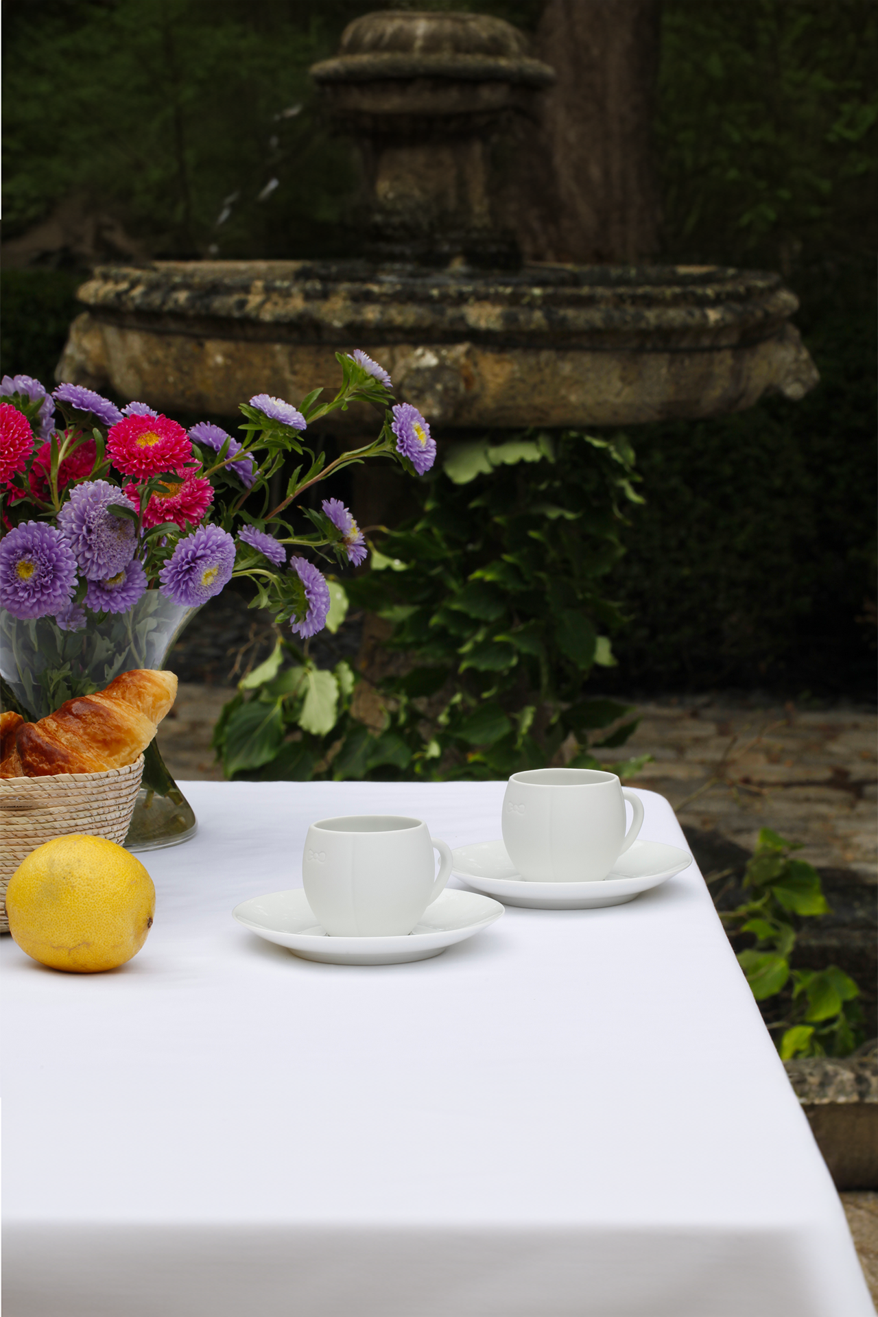
{"label": "white cup nearer the table's far right corner, without saucer", "polygon": [[[628,832],[625,801],[634,811]],[[592,768],[513,773],[503,799],[503,843],[530,882],[600,882],[642,822],[640,797]]]}

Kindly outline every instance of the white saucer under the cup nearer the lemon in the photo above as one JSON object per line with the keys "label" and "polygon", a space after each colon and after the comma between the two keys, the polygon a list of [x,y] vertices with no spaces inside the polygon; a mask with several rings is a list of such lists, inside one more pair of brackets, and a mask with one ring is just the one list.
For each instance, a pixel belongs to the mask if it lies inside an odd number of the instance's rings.
{"label": "white saucer under the cup nearer the lemon", "polygon": [[288,947],[303,960],[325,965],[404,965],[438,956],[499,919],[503,906],[474,892],[446,888],[404,938],[330,938],[315,919],[301,888],[242,901],[232,911],[238,923],[267,942]]}

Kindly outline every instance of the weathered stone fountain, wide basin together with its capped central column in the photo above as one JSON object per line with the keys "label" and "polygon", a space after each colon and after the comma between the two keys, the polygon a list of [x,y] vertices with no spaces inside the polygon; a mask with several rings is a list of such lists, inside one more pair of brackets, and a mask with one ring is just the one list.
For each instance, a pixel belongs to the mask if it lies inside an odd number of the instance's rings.
{"label": "weathered stone fountain, wide basin together with its capped central column", "polygon": [[554,75],[509,24],[370,13],[312,75],[359,148],[366,255],[97,267],[59,379],[230,416],[253,392],[332,385],[336,352],[363,348],[452,431],[696,419],[816,383],[777,274],[521,263],[492,207],[492,144]]}

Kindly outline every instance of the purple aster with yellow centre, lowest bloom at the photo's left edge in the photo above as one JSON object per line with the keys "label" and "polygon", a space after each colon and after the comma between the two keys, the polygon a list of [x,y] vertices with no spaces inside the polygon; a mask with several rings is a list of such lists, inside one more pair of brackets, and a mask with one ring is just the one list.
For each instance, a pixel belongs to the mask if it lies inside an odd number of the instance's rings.
{"label": "purple aster with yellow centre, lowest bloom at the photo's left edge", "polygon": [[0,540],[0,605],[13,618],[61,612],[76,586],[76,558],[45,522],[22,522]]}

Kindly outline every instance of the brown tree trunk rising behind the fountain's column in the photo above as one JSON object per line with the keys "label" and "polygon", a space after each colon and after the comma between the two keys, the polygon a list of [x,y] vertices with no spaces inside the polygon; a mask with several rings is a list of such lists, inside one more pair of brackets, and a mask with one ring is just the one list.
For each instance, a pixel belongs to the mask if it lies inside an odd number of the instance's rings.
{"label": "brown tree trunk rising behind the fountain's column", "polygon": [[661,0],[545,0],[558,82],[521,130],[507,223],[525,259],[633,263],[658,248],[652,120]]}

